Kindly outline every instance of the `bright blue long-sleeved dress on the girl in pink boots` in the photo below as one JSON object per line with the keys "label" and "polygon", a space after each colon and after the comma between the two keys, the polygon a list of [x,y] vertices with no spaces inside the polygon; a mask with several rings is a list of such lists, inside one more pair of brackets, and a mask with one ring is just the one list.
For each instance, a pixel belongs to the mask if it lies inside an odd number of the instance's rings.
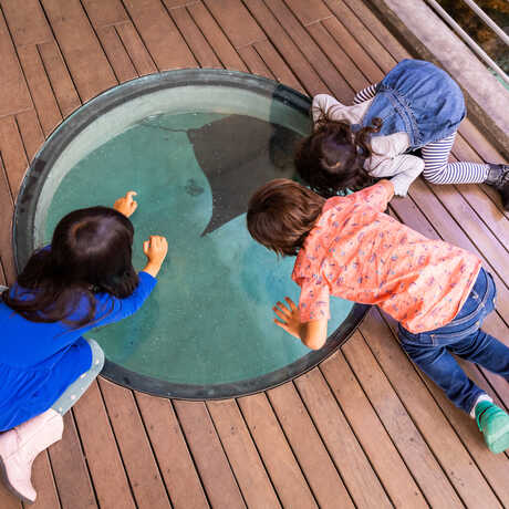
{"label": "bright blue long-sleeved dress on the girl in pink boots", "polygon": [[[126,299],[96,293],[94,320],[79,329],[62,322],[30,322],[0,301],[0,432],[50,408],[91,367],[92,351],[82,334],[133,314],[156,282],[139,272],[139,284]],[[83,300],[71,318],[83,316],[85,305]]]}

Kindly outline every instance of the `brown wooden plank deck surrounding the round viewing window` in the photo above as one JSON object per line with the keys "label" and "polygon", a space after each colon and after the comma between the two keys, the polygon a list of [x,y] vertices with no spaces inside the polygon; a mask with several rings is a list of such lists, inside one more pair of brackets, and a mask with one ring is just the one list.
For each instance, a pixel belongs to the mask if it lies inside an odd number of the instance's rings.
{"label": "brown wooden plank deck surrounding the round viewing window", "polygon": [[[0,283],[28,163],[83,102],[177,67],[261,74],[352,100],[408,53],[361,0],[0,0]],[[468,121],[458,159],[500,162]],[[509,221],[482,186],[418,180],[392,212],[478,253],[495,276],[487,330],[509,343]],[[509,385],[469,375],[509,405]],[[94,383],[35,461],[38,509],[509,507],[509,461],[408,362],[373,310],[318,368],[254,396],[200,403]],[[0,488],[0,508],[21,503]]]}

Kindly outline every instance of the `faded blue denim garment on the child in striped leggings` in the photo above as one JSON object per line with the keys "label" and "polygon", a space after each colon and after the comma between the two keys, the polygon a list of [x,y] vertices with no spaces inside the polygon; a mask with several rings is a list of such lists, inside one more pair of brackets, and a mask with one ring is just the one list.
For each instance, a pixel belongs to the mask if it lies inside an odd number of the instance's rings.
{"label": "faded blue denim garment on the child in striped leggings", "polygon": [[383,121],[373,136],[407,133],[409,150],[455,133],[466,115],[465,100],[456,82],[436,65],[403,60],[382,80],[362,121]]}

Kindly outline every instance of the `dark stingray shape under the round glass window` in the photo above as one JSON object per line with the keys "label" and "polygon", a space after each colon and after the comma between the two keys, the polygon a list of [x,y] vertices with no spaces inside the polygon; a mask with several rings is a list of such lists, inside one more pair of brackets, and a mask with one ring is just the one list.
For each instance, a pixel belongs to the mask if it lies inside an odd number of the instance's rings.
{"label": "dark stingray shape under the round glass window", "polygon": [[252,193],[266,181],[291,178],[295,144],[302,137],[246,115],[187,129],[187,136],[212,191],[212,216],[201,236],[246,212]]}

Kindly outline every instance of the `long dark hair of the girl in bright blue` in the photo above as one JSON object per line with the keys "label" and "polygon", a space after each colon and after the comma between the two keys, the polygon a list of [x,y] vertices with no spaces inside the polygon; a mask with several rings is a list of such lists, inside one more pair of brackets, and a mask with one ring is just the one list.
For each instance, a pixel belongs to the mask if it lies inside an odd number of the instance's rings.
{"label": "long dark hair of the girl in bright blue", "polygon": [[[69,214],[56,226],[51,247],[29,259],[18,277],[21,289],[3,292],[3,301],[32,322],[62,320],[75,326],[91,322],[95,292],[123,299],[138,284],[131,260],[133,235],[131,221],[108,207]],[[80,316],[72,318],[77,309]]]}

